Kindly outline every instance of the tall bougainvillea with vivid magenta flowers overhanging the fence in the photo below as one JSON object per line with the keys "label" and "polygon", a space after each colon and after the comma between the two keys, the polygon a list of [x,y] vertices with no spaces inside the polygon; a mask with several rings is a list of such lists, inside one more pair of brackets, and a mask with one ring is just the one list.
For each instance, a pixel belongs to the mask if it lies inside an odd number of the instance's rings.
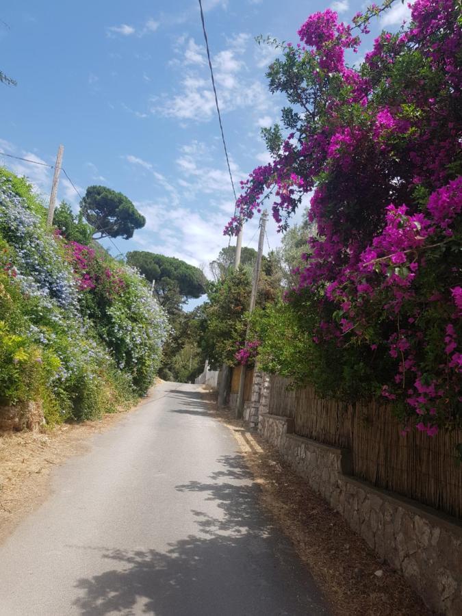
{"label": "tall bougainvillea with vivid magenta flowers overhanging the fence", "polygon": [[[461,409],[461,18],[454,0],[415,0],[409,24],[368,40],[390,5],[350,24],[315,13],[298,44],[281,46],[268,79],[290,106],[283,129],[266,130],[272,162],[242,183],[225,233],[273,187],[284,230],[311,193],[317,234],[287,302],[312,369],[294,366],[294,379],[381,393],[434,435]],[[359,47],[370,51],[354,64]],[[260,352],[290,374],[281,349],[263,341]]]}

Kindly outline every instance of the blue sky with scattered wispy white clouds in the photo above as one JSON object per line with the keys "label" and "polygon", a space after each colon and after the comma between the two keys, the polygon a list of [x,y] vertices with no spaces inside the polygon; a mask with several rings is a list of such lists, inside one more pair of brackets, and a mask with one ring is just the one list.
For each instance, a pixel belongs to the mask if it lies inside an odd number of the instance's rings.
{"label": "blue sky with scattered wispy white clouds", "polygon": [[[279,119],[283,99],[264,77],[272,49],[255,36],[296,42],[307,16],[327,6],[348,19],[357,0],[203,0],[225,136],[236,185],[266,162],[261,127]],[[407,16],[396,3],[389,29]],[[146,216],[120,251],[148,250],[206,266],[227,245],[222,228],[233,194],[222,151],[196,0],[23,0],[2,8],[0,68],[18,81],[0,86],[0,149],[63,166],[81,193],[108,185]],[[374,32],[372,33],[374,34]],[[51,170],[0,157],[49,193]],[[62,177],[58,197],[77,207]],[[298,216],[299,218],[299,216]],[[268,240],[280,242],[270,222]],[[257,245],[257,221],[244,245]],[[268,248],[268,244],[266,246]],[[114,249],[112,249],[114,253]]]}

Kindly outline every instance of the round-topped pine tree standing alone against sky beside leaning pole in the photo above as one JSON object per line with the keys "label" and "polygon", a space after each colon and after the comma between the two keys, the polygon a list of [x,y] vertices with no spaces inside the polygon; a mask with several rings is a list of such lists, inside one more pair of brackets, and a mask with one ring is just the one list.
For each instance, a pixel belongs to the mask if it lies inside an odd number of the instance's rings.
{"label": "round-topped pine tree standing alone against sky beside leaning pole", "polygon": [[129,240],[135,229],[142,229],[146,218],[129,198],[105,186],[88,186],[80,202],[81,213],[97,231],[95,239],[118,238]]}

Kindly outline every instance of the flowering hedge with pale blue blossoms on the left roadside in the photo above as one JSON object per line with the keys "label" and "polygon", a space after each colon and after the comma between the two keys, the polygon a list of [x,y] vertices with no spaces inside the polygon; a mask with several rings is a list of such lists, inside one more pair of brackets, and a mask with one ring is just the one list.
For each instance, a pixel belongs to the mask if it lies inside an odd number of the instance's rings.
{"label": "flowering hedge with pale blue blossoms on the left roadside", "polygon": [[146,392],[165,335],[141,277],[51,233],[31,187],[1,170],[1,401],[40,399],[49,423],[98,417]]}

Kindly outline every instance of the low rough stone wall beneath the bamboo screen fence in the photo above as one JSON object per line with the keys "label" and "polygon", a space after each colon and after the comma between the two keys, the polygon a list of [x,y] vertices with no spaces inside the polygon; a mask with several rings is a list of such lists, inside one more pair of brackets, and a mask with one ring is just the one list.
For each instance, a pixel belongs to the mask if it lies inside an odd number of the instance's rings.
{"label": "low rough stone wall beneath the bamboo screen fence", "polygon": [[462,524],[350,476],[349,450],[293,434],[289,418],[261,413],[259,432],[344,516],[376,554],[402,572],[428,606],[462,614]]}

